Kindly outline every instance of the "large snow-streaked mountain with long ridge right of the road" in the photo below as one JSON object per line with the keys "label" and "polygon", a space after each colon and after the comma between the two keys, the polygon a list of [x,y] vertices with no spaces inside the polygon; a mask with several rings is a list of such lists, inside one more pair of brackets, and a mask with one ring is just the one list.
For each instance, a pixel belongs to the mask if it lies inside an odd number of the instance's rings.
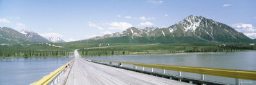
{"label": "large snow-streaked mountain with long ridge right of the road", "polygon": [[226,24],[190,15],[168,28],[128,28],[102,37],[93,37],[82,42],[97,43],[238,43],[253,42],[242,32]]}

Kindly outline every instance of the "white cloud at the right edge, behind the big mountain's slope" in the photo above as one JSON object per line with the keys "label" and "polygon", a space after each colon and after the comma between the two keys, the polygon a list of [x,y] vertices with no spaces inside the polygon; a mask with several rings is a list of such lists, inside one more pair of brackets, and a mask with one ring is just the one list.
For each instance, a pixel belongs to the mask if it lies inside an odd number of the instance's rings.
{"label": "white cloud at the right edge, behind the big mountain's slope", "polygon": [[256,38],[256,29],[252,24],[247,23],[234,23],[231,25],[232,28],[235,28],[235,30],[239,32],[243,32],[244,35],[255,39]]}

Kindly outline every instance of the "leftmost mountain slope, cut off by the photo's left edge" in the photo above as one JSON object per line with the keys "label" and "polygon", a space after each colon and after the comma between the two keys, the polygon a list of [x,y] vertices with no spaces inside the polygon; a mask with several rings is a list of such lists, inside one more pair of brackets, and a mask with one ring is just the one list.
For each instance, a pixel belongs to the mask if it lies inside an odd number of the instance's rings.
{"label": "leftmost mountain slope, cut off by the photo's left edge", "polygon": [[0,27],[0,44],[29,43],[30,40],[17,30],[8,27]]}

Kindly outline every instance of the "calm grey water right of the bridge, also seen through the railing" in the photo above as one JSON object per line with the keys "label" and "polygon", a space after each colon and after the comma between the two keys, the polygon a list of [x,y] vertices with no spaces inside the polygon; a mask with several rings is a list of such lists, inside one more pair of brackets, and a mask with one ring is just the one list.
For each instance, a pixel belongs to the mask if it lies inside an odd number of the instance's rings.
{"label": "calm grey water right of the bridge, also seen through the railing", "polygon": [[[256,70],[256,51],[235,53],[183,53],[168,55],[126,55],[109,57],[85,57],[87,59],[100,59],[119,62],[138,62],[148,64],[167,64],[179,66],[198,66],[209,68],[229,68],[239,70]],[[125,65],[124,65],[125,66]],[[129,65],[127,65],[129,66]],[[148,69],[149,70],[149,69]],[[156,70],[157,71],[157,70]],[[158,70],[161,73],[161,70]],[[177,75],[176,71],[167,72]],[[186,77],[200,78],[194,73],[183,73]],[[206,79],[212,81],[235,84],[235,79],[206,75]],[[256,84],[255,81],[242,80],[243,84]]]}

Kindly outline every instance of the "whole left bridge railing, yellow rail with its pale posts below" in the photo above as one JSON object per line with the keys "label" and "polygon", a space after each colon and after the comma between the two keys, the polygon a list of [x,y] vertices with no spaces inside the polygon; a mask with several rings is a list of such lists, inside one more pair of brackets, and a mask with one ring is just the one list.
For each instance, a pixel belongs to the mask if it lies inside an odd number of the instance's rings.
{"label": "whole left bridge railing, yellow rail with its pale posts below", "polygon": [[45,77],[43,77],[42,79],[39,79],[37,82],[34,82],[32,85],[53,85],[53,84],[57,84],[57,82],[60,81],[60,78],[62,77],[62,75],[64,74],[64,70],[65,68],[69,68],[69,65],[71,64],[71,62],[73,62],[73,60],[71,60],[70,62],[64,64],[63,66],[61,66],[60,68],[57,68],[55,71],[53,71],[52,73],[50,73],[49,75],[46,75]]}

